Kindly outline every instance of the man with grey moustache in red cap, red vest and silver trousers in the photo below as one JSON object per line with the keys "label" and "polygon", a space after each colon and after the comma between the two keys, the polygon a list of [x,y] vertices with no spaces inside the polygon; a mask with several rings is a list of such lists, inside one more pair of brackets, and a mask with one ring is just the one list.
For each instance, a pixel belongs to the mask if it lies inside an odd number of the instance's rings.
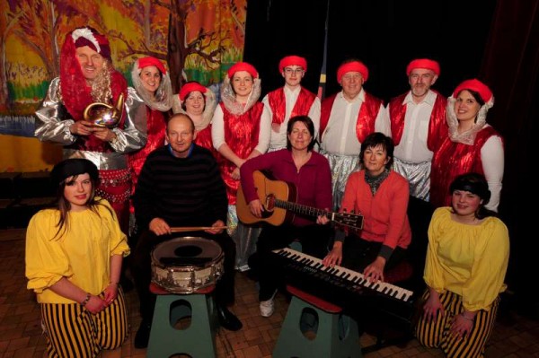
{"label": "man with grey moustache in red cap, red vest and silver trousers", "polygon": [[430,88],[440,74],[437,61],[414,59],[406,74],[410,91],[386,108],[395,144],[393,169],[408,179],[411,196],[428,202],[432,155],[447,136],[447,100]]}

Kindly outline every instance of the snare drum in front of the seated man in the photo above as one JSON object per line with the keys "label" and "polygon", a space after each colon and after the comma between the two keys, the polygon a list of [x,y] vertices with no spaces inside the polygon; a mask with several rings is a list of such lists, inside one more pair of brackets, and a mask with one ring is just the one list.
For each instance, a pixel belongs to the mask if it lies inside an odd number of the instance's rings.
{"label": "snare drum in front of the seated man", "polygon": [[175,238],[152,251],[152,281],[171,293],[193,293],[216,284],[225,255],[213,240]]}

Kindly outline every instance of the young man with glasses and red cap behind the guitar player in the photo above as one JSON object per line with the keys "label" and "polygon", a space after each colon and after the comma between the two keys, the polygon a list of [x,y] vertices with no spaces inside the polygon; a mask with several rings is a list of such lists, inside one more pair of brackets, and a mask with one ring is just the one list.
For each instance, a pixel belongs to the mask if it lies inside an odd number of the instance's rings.
{"label": "young man with glasses and red cap behind the guitar player", "polygon": [[268,93],[262,100],[271,117],[269,152],[287,147],[289,118],[308,116],[313,120],[315,135],[318,135],[320,127],[320,99],[301,86],[301,80],[307,72],[305,58],[283,57],[278,63],[278,70],[285,79],[285,85]]}

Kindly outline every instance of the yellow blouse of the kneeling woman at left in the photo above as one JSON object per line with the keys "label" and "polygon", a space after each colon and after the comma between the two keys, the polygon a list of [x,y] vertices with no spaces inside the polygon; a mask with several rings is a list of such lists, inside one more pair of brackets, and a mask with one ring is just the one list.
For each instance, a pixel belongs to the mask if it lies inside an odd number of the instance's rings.
{"label": "yellow blouse of the kneeling woman at left", "polygon": [[87,293],[102,293],[110,284],[110,257],[128,256],[127,237],[114,210],[106,200],[101,203],[99,215],[90,209],[68,213],[69,226],[57,237],[56,209],[41,210],[31,218],[26,231],[26,277],[38,302],[75,302],[49,290],[62,277]]}

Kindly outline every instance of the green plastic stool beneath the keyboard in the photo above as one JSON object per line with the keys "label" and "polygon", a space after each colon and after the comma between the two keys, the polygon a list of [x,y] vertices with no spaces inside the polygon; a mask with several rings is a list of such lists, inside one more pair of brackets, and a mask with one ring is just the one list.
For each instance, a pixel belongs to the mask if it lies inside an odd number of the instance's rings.
{"label": "green plastic stool beneath the keyboard", "polygon": [[[287,317],[278,335],[273,358],[358,358],[358,322],[341,313],[342,309],[296,287],[287,285],[292,293]],[[305,331],[316,336],[310,339]]]}

